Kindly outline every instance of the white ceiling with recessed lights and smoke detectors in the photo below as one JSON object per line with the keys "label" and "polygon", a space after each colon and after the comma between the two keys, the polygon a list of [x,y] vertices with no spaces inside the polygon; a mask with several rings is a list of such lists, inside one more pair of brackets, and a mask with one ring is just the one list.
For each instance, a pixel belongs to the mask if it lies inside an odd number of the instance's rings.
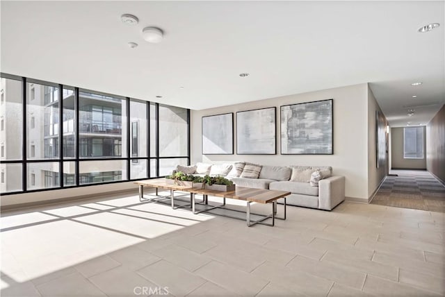
{"label": "white ceiling with recessed lights and smoke detectors", "polygon": [[[391,126],[426,124],[445,102],[444,12],[444,1],[1,1],[1,71],[194,110],[371,83]],[[145,42],[145,26],[163,42]]]}

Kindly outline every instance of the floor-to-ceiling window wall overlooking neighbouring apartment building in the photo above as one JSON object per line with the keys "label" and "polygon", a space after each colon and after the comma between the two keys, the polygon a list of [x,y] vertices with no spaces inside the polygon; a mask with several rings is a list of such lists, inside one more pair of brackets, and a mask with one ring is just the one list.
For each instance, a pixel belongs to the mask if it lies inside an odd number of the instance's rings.
{"label": "floor-to-ceiling window wall overlooking neighbouring apartment building", "polygon": [[1,194],[156,178],[190,162],[189,110],[1,76]]}

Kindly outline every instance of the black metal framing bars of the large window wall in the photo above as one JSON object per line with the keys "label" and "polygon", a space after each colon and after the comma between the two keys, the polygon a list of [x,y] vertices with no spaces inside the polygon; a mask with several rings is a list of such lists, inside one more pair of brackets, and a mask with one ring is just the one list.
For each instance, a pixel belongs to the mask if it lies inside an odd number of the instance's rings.
{"label": "black metal framing bars of the large window wall", "polygon": [[[38,79],[34,79],[34,78],[27,78],[25,76],[17,76],[17,75],[13,75],[13,74],[5,74],[5,73],[0,73],[0,77],[1,78],[6,78],[6,79],[13,79],[13,80],[20,80],[22,83],[22,159],[21,160],[0,160],[0,164],[22,164],[22,190],[19,191],[13,191],[13,192],[4,192],[1,193],[1,196],[8,196],[8,195],[15,195],[15,194],[24,194],[24,193],[30,193],[30,192],[44,192],[44,191],[53,191],[53,190],[57,190],[57,189],[72,189],[75,187],[90,187],[90,186],[96,186],[96,185],[108,185],[108,184],[114,184],[114,183],[128,183],[131,181],[136,181],[136,180],[147,180],[147,179],[153,179],[153,178],[163,178],[164,176],[159,176],[159,160],[161,159],[187,159],[187,164],[190,164],[191,162],[191,112],[190,109],[185,109],[187,112],[187,155],[181,155],[181,156],[163,156],[163,157],[159,157],[159,103],[153,102],[153,101],[145,101],[145,100],[140,100],[140,99],[134,99],[134,98],[130,98],[128,96],[119,96],[119,95],[114,95],[114,94],[108,94],[108,93],[104,93],[104,92],[97,92],[94,90],[87,90],[87,89],[83,89],[83,88],[79,88],[79,87],[74,87],[72,85],[63,85],[63,84],[58,84],[58,83],[52,83],[49,81],[44,81],[44,80],[38,80]],[[27,157],[27,153],[29,150],[31,150],[31,144],[27,143],[26,140],[26,129],[28,128],[28,119],[29,117],[31,117],[31,115],[27,114],[26,112],[26,84],[27,83],[38,83],[41,85],[46,85],[49,87],[58,87],[58,133],[57,133],[57,138],[58,138],[58,143],[60,144],[58,146],[58,153],[57,153],[57,157],[55,158],[51,158],[51,159],[29,159]],[[64,89],[69,89],[69,90],[74,90],[74,147],[75,147],[75,151],[74,151],[74,158],[72,157],[65,157],[64,156],[64,152],[63,152],[63,126],[64,126],[64,120],[63,120],[63,91]],[[97,95],[101,95],[101,96],[111,96],[113,98],[119,98],[121,100],[124,100],[127,108],[126,108],[126,121],[127,121],[127,142],[124,143],[122,142],[122,144],[120,144],[121,146],[121,150],[123,148],[123,146],[127,146],[127,156],[126,157],[122,157],[122,158],[81,158],[81,143],[80,143],[80,137],[79,137],[79,92],[92,92],[94,94]],[[51,92],[51,96],[54,96],[54,89]],[[6,101],[6,96],[3,99],[4,101]],[[54,98],[53,98],[54,101]],[[130,114],[130,101],[136,101],[136,102],[140,102],[140,103],[144,103],[145,107],[146,107],[146,117],[147,117],[147,127],[146,127],[146,139],[147,139],[147,155],[145,157],[139,157],[138,155],[132,155],[132,152],[130,151],[130,142],[132,141],[131,137],[131,114]],[[151,130],[150,130],[150,105],[155,106],[155,117],[156,117],[156,121],[155,121],[155,139],[156,139],[156,147],[155,147],[155,151],[156,151],[156,156],[151,155],[151,150],[150,150],[150,139],[153,137],[153,135],[151,135]],[[163,104],[165,105],[165,104]],[[172,106],[172,105],[171,105]],[[115,114],[114,110],[113,110],[113,117],[114,116],[123,116],[123,114]],[[138,133],[140,132],[140,129],[138,127]],[[122,131],[123,132],[123,131]],[[139,135],[138,135],[139,137]],[[28,147],[28,145],[30,147]],[[114,146],[114,144],[113,144]],[[113,180],[113,181],[106,181],[103,183],[92,183],[92,184],[86,184],[86,185],[81,185],[81,180],[80,180],[80,176],[81,174],[79,174],[79,163],[82,161],[102,161],[102,160],[125,160],[127,163],[127,177],[123,180]],[[137,163],[138,160],[147,160],[147,178],[131,178],[131,164],[132,163]],[[152,161],[156,162],[156,172],[154,174],[154,176],[152,176],[152,174],[150,174],[151,171],[151,164]],[[27,164],[30,163],[40,163],[40,162],[58,162],[59,164],[59,174],[58,174],[58,178],[59,180],[59,185],[58,187],[51,187],[51,188],[42,188],[42,189],[28,189],[28,185],[27,185]],[[74,185],[65,185],[65,180],[67,178],[66,174],[62,174],[63,173],[63,163],[64,162],[74,162],[75,165],[75,170],[74,170]],[[6,173],[5,173],[6,176]],[[65,177],[65,178],[64,178]],[[71,178],[70,178],[71,179]],[[0,198],[1,199],[1,198]]]}

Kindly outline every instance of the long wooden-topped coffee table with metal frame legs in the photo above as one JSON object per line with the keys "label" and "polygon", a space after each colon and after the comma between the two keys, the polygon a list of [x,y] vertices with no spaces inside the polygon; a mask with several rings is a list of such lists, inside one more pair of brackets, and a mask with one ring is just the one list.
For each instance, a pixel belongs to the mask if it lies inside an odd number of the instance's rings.
{"label": "long wooden-topped coffee table with metal frame legs", "polygon": [[[152,202],[152,201],[157,201],[160,198],[168,198],[168,196],[159,196],[156,198],[145,199],[143,197],[143,194],[144,194],[143,188],[144,187],[156,188],[156,196],[158,194],[158,189],[170,190],[170,198],[171,198],[172,208],[177,208],[177,206],[175,206],[175,191],[190,193],[191,194],[190,205],[185,205],[185,206],[190,206],[194,214],[199,214],[200,212],[209,212],[210,210],[214,210],[216,208],[239,212],[239,210],[233,210],[233,209],[226,207],[225,199],[229,198],[229,199],[246,201],[246,203],[247,203],[247,205],[246,205],[247,209],[245,212],[246,213],[246,222],[249,227],[253,226],[254,224],[257,224],[257,223],[263,224],[266,226],[275,226],[275,219],[285,220],[286,219],[286,196],[291,194],[290,192],[285,192],[285,191],[276,191],[276,190],[270,190],[270,189],[254,189],[254,188],[249,188],[249,187],[236,187],[234,191],[229,191],[229,192],[215,191],[215,190],[209,190],[209,189],[195,189],[193,187],[187,187],[187,186],[181,186],[181,185],[169,185],[169,184],[165,183],[164,179],[161,179],[161,178],[156,179],[156,180],[140,180],[140,181],[136,181],[134,183],[139,186],[139,200],[140,201]],[[204,197],[203,203],[202,203],[204,205],[203,210],[196,210],[196,201],[195,201],[196,194],[201,194]],[[223,198],[223,204],[209,205],[208,204],[209,196],[216,196],[216,197]],[[277,200],[280,198],[284,198],[283,217],[276,216],[276,214],[277,214]],[[250,204],[252,202],[253,203],[261,203],[261,204],[269,203],[270,205],[272,205],[272,213],[269,215],[264,215],[264,214],[254,214],[254,213],[250,212]],[[184,207],[184,206],[182,206],[182,207]],[[252,221],[252,219],[251,219],[252,214],[261,216],[262,218],[257,221]],[[219,214],[219,215],[222,215],[224,217],[231,217],[234,219],[240,219],[239,217],[229,216],[226,214],[224,214],[224,215]],[[272,219],[272,223],[265,223],[264,221],[266,221],[267,219]]]}

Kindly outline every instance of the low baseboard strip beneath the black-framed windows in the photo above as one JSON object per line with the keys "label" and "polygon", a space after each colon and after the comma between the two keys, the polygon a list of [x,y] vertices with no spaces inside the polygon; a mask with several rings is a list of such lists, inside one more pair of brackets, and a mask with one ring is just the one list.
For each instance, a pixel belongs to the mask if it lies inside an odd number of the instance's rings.
{"label": "low baseboard strip beneath the black-framed windows", "polygon": [[56,198],[56,199],[50,199],[50,200],[44,200],[44,201],[34,201],[29,203],[18,203],[18,204],[11,204],[11,205],[2,205],[0,207],[0,213],[2,212],[8,212],[11,210],[25,210],[26,208],[32,208],[32,207],[40,207],[40,206],[46,206],[46,205],[56,205],[56,204],[63,204],[63,203],[70,203],[74,201],[83,201],[83,200],[91,200],[92,198],[105,198],[112,196],[118,196],[122,194],[136,194],[138,193],[138,189],[122,189],[120,191],[113,191],[113,192],[103,192],[100,194],[86,194],[86,195],[80,195],[80,196],[71,196],[68,198]]}

